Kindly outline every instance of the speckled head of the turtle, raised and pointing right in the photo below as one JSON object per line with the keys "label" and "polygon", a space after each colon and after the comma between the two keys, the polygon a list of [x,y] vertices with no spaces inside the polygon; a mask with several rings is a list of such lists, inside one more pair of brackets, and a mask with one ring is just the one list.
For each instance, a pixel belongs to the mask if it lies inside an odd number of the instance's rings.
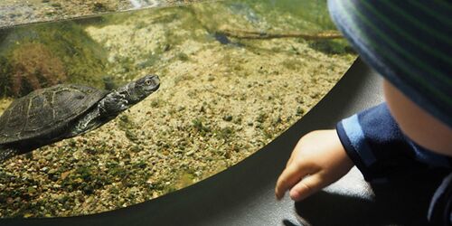
{"label": "speckled head of the turtle, raised and pointing right", "polygon": [[138,80],[132,81],[126,86],[127,100],[129,103],[137,103],[146,99],[151,93],[160,87],[160,80],[156,75],[146,75]]}

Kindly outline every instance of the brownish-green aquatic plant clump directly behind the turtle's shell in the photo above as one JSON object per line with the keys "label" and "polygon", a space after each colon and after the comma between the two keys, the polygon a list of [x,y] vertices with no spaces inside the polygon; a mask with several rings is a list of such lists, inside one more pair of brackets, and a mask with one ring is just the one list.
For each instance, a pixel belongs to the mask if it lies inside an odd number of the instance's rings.
{"label": "brownish-green aquatic plant clump directly behind the turtle's shell", "polygon": [[76,23],[17,27],[0,35],[0,96],[71,82],[104,88],[107,54]]}

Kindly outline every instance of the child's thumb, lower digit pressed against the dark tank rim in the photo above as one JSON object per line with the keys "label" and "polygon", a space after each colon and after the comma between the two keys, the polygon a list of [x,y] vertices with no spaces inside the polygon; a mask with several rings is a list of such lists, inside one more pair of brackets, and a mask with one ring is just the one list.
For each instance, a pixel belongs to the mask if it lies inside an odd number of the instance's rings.
{"label": "child's thumb, lower digit pressed against the dark tank rim", "polygon": [[312,193],[322,189],[324,184],[324,180],[322,180],[319,174],[308,175],[290,189],[290,198],[294,201],[301,201]]}

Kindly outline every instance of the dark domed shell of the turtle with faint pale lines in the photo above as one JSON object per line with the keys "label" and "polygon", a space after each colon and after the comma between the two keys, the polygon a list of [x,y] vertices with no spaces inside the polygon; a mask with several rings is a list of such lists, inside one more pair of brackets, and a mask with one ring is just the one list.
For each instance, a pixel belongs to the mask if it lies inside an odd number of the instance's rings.
{"label": "dark domed shell of the turtle with faint pale lines", "polygon": [[107,93],[80,85],[56,85],[15,99],[0,117],[0,145],[51,135]]}

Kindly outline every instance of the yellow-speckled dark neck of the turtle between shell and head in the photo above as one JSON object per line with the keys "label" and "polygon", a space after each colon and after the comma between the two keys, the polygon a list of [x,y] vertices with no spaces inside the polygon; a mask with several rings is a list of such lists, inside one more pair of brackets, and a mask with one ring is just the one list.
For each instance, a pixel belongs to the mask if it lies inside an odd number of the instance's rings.
{"label": "yellow-speckled dark neck of the turtle between shell and head", "polygon": [[129,108],[126,95],[114,91],[109,93],[104,99],[99,101],[99,114],[100,115],[118,115],[121,111]]}

